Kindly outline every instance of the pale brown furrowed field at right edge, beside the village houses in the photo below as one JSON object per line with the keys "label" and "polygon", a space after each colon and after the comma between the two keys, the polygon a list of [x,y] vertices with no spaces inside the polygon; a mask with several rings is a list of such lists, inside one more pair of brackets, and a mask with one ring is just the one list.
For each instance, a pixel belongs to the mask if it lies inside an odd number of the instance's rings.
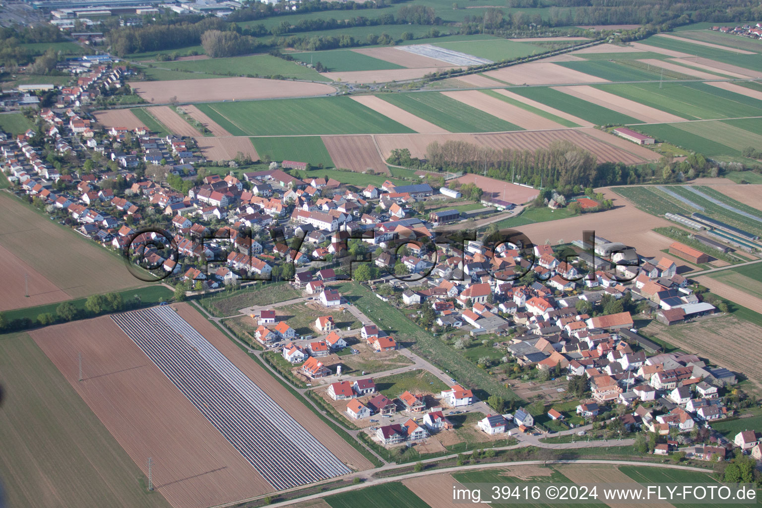
{"label": "pale brown furrowed field at right edge, beside the village houses", "polygon": [[756,324],[732,315],[720,315],[669,327],[652,321],[645,327],[645,333],[688,353],[699,354],[719,366],[743,372],[755,385],[762,386],[762,350],[759,347],[762,327]]}

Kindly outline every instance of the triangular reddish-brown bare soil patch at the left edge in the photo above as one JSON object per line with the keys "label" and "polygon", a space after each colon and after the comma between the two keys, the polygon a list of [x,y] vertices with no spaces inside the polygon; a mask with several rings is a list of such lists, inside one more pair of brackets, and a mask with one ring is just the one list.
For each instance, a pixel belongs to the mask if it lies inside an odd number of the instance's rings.
{"label": "triangular reddish-brown bare soil patch at the left edge", "polygon": [[[66,291],[59,289],[2,245],[0,245],[0,259],[2,259],[0,280],[3,281],[0,311],[72,299]],[[27,288],[28,297],[25,296]]]}

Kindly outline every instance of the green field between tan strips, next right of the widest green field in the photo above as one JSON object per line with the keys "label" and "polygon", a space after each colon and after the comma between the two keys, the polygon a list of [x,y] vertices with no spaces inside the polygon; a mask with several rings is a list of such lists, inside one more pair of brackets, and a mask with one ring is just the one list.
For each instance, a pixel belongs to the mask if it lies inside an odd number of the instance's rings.
{"label": "green field between tan strips, next right of the widest green field", "polygon": [[384,101],[402,107],[451,133],[492,133],[504,130],[523,130],[513,123],[493,117],[437,91],[415,94],[379,95]]}

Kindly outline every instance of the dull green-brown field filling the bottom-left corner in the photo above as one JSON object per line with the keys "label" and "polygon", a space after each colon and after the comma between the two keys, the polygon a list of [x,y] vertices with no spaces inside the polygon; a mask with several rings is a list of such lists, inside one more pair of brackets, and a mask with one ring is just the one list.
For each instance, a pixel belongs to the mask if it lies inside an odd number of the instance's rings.
{"label": "dull green-brown field filling the bottom-left corner", "polygon": [[28,334],[0,335],[8,506],[169,508]]}

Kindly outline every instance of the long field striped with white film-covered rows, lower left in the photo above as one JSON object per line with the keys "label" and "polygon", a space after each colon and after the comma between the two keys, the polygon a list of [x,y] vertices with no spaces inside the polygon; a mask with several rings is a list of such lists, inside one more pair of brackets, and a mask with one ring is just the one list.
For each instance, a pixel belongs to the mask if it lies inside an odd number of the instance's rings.
{"label": "long field striped with white film-covered rows, lower left", "polygon": [[111,318],[276,489],[351,472],[174,309]]}

